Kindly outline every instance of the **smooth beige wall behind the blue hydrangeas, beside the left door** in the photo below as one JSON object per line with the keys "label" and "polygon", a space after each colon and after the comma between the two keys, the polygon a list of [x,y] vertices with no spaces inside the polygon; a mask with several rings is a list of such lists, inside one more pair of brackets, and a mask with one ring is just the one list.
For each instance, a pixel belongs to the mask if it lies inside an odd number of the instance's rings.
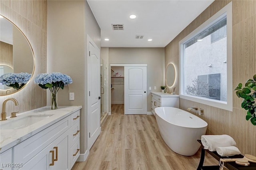
{"label": "smooth beige wall behind the blue hydrangeas, beside the left door", "polygon": [[[82,106],[81,154],[87,149],[87,34],[100,48],[100,28],[87,1],[48,1],[47,72],[62,72],[73,80],[58,92],[57,104]],[[69,100],[69,92],[75,100]]]}

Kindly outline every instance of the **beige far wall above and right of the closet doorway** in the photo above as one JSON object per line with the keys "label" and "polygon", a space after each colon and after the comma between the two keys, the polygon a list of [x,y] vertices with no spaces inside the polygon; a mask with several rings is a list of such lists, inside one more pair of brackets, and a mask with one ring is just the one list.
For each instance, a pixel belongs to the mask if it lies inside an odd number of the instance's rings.
{"label": "beige far wall above and right of the closet doorway", "polygon": [[[160,92],[160,86],[164,84],[164,48],[109,48],[109,64],[148,64],[147,89],[150,86],[152,88],[147,93],[147,110],[150,112],[150,92]],[[156,86],[156,90],[154,90],[154,86]]]}

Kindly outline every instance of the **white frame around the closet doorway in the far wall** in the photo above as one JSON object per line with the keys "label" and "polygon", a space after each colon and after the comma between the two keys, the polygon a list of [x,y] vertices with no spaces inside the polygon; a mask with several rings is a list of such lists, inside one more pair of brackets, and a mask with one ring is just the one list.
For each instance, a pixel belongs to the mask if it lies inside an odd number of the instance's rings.
{"label": "white frame around the closet doorway in the far wall", "polygon": [[[111,66],[134,66],[134,67],[146,66],[146,67],[148,67],[148,64],[112,64],[112,63],[110,63],[110,68],[111,68]],[[109,72],[108,75],[111,75],[111,69],[109,69],[108,72]],[[147,69],[147,72],[148,72],[148,69]],[[148,74],[147,74],[147,76],[148,76]],[[111,76],[109,76],[108,82],[110,82],[110,84],[111,84]],[[148,77],[147,77],[147,84],[148,84]],[[110,108],[109,109],[110,112],[108,112],[108,115],[111,115],[111,89],[110,89],[111,86],[108,86],[108,88],[109,88],[108,89],[108,99],[109,99],[109,102],[108,102],[109,107],[108,108]],[[148,102],[147,102],[147,107],[148,107]]]}

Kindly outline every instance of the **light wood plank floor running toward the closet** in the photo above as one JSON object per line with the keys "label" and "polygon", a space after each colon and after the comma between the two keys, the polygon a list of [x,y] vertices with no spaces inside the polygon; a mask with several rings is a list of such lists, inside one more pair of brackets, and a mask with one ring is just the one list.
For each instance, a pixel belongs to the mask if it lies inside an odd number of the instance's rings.
{"label": "light wood plank floor running toward the closet", "polygon": [[[200,150],[194,156],[173,152],[162,139],[154,115],[124,115],[123,104],[113,104],[100,136],[85,162],[72,170],[196,170]],[[218,161],[206,153],[204,165]]]}

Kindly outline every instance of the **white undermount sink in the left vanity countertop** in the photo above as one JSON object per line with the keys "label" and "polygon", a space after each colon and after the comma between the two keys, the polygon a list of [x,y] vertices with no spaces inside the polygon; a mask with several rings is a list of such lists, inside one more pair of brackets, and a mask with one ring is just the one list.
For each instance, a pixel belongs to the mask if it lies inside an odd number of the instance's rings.
{"label": "white undermount sink in the left vanity countertop", "polygon": [[[45,118],[49,118],[52,114],[47,115],[28,115],[23,118],[13,120],[11,122],[7,122],[6,124],[2,124],[0,129],[22,129],[30,126],[36,122],[39,122]],[[15,118],[14,118],[15,119]]]}

